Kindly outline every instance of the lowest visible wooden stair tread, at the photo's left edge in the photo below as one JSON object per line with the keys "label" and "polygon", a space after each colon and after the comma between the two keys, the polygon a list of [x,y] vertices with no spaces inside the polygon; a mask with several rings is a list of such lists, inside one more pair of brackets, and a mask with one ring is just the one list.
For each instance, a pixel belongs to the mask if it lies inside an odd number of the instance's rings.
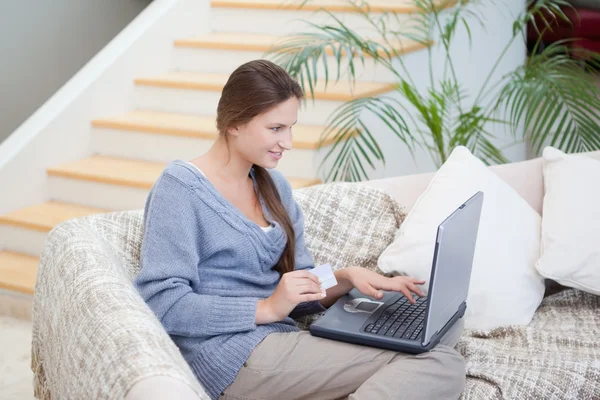
{"label": "lowest visible wooden stair tread, at the photo's left edge", "polygon": [[0,251],[0,288],[33,294],[38,257],[12,251]]}

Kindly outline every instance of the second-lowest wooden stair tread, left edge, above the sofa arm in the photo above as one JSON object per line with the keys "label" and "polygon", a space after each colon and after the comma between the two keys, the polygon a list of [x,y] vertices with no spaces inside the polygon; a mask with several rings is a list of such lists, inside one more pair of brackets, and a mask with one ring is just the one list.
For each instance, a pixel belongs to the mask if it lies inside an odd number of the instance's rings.
{"label": "second-lowest wooden stair tread, left edge, above the sofa arm", "polygon": [[49,232],[56,225],[68,219],[105,212],[109,212],[109,210],[49,201],[0,215],[0,224]]}

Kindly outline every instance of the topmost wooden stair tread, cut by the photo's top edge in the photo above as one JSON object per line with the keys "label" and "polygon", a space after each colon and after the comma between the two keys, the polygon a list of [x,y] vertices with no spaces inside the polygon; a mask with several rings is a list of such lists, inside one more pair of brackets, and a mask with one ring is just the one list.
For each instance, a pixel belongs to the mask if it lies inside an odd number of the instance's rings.
{"label": "topmost wooden stair tread, cut by the photo's top edge", "polygon": [[[352,12],[353,7],[347,0],[310,0],[302,5],[302,1],[290,0],[212,0],[211,7],[214,8],[253,8],[266,10],[297,10],[302,8],[306,11],[315,11],[325,8],[331,12]],[[440,8],[451,7],[456,4],[456,0],[438,0],[435,2]],[[369,0],[368,2],[373,12],[395,12],[412,13],[418,9],[414,5],[414,0]]]}

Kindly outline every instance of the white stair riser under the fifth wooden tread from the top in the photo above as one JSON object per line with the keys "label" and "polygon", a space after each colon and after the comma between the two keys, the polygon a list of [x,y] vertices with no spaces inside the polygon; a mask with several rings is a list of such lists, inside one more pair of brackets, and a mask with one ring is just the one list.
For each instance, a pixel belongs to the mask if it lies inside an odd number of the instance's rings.
{"label": "white stair riser under the fifth wooden tread from the top", "polygon": [[49,176],[48,191],[51,200],[121,211],[143,209],[149,189]]}

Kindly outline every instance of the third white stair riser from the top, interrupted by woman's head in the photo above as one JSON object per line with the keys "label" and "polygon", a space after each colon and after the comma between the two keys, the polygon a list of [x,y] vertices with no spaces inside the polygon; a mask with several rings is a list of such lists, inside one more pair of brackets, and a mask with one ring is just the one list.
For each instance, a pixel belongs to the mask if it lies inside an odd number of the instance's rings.
{"label": "third white stair riser from the top, interrupted by woman's head", "polygon": [[[152,86],[137,86],[134,91],[134,104],[138,109],[165,111],[179,114],[216,115],[220,92],[190,90]],[[333,111],[344,104],[337,100],[306,101],[300,109],[298,123],[325,125]]]}

